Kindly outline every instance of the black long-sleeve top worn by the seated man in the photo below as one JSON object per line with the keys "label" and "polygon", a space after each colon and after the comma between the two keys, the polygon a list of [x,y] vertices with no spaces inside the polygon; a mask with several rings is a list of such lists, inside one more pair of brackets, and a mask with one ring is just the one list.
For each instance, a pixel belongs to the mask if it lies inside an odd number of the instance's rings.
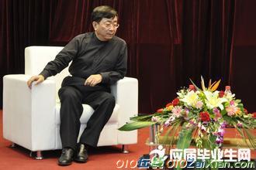
{"label": "black long-sleeve top worn by the seated man", "polygon": [[115,83],[126,74],[126,42],[117,36],[106,42],[100,41],[95,32],[78,35],[67,43],[53,61],[47,63],[40,74],[45,79],[55,76],[71,61],[69,72],[79,77],[81,84],[92,74],[101,74],[104,84]]}

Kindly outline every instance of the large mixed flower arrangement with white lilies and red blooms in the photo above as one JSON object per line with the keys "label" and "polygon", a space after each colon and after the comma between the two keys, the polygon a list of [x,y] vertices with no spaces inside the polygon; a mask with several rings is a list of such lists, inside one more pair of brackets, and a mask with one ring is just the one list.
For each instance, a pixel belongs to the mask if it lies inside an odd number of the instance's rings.
{"label": "large mixed flower arrangement with white lilies and red blooms", "polygon": [[220,80],[214,83],[209,80],[209,86],[206,87],[201,77],[202,89],[192,82],[189,88],[178,90],[178,97],[164,108],[154,114],[131,117],[132,122],[119,130],[133,131],[160,124],[161,131],[168,128],[165,136],[171,136],[169,144],[172,144],[176,132],[179,132],[177,148],[189,148],[194,140],[198,148],[213,149],[223,145],[225,128],[232,126],[247,145],[256,148],[256,139],[251,134],[251,130],[256,128],[256,119],[253,114],[247,114],[241,100],[235,98],[230,87],[218,91],[219,84]]}

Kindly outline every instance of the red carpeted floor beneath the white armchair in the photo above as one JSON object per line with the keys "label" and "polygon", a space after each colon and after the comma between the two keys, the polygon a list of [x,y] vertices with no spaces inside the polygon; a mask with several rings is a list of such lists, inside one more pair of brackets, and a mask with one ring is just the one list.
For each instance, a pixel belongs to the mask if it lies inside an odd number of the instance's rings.
{"label": "red carpeted floor beneath the white armchair", "polygon": [[[255,131],[256,132],[256,131]],[[24,132],[25,133],[25,132]],[[256,134],[256,133],[254,133]],[[61,151],[43,151],[43,160],[36,160],[29,157],[29,151],[20,146],[11,148],[10,141],[2,137],[2,110],[0,110],[0,170],[1,169],[137,169],[133,167],[141,155],[149,154],[149,147],[145,145],[149,135],[148,128],[139,130],[137,145],[130,145],[129,154],[121,152],[121,146],[109,146],[91,148],[89,150],[89,161],[85,164],[73,162],[72,165],[60,167],[57,165],[57,158]],[[234,129],[225,134],[227,138],[234,137]],[[256,158],[256,151],[251,151],[251,158]],[[117,164],[118,162],[118,164]],[[118,168],[123,164],[123,168]],[[130,165],[131,164],[131,165]]]}

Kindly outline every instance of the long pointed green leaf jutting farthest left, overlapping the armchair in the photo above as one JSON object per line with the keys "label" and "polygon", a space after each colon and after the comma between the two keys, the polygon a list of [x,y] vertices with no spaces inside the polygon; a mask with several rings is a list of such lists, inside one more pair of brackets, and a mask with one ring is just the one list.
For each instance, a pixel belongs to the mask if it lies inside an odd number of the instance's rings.
{"label": "long pointed green leaf jutting farthest left, overlapping the armchair", "polygon": [[152,121],[135,121],[132,123],[124,124],[121,128],[119,128],[119,131],[134,131],[140,128],[149,127],[152,124],[156,124],[157,122]]}

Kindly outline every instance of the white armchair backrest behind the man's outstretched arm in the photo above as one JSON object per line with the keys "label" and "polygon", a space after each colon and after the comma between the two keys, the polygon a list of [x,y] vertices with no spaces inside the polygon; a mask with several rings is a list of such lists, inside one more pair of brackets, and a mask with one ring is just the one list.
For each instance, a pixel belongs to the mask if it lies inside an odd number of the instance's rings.
{"label": "white armchair backrest behind the man's outstretched arm", "polygon": [[[57,53],[63,49],[63,46],[29,46],[25,49],[25,74],[38,75],[48,62],[55,59]],[[56,82],[56,98],[57,92],[61,88],[62,80],[69,75],[68,68],[65,68],[56,76],[49,77]]]}

